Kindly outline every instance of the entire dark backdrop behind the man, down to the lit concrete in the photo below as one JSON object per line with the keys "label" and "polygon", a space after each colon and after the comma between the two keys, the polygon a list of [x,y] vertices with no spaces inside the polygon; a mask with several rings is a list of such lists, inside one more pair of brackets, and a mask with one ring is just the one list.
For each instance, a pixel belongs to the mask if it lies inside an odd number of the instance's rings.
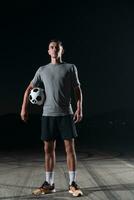
{"label": "entire dark backdrop behind the man, down to the lit concrete", "polygon": [[63,60],[79,72],[84,97],[79,142],[133,145],[133,36],[129,1],[5,1],[0,6],[1,147],[40,145],[41,108],[30,105],[27,124],[19,113],[34,73],[50,61],[52,38],[63,41]]}

